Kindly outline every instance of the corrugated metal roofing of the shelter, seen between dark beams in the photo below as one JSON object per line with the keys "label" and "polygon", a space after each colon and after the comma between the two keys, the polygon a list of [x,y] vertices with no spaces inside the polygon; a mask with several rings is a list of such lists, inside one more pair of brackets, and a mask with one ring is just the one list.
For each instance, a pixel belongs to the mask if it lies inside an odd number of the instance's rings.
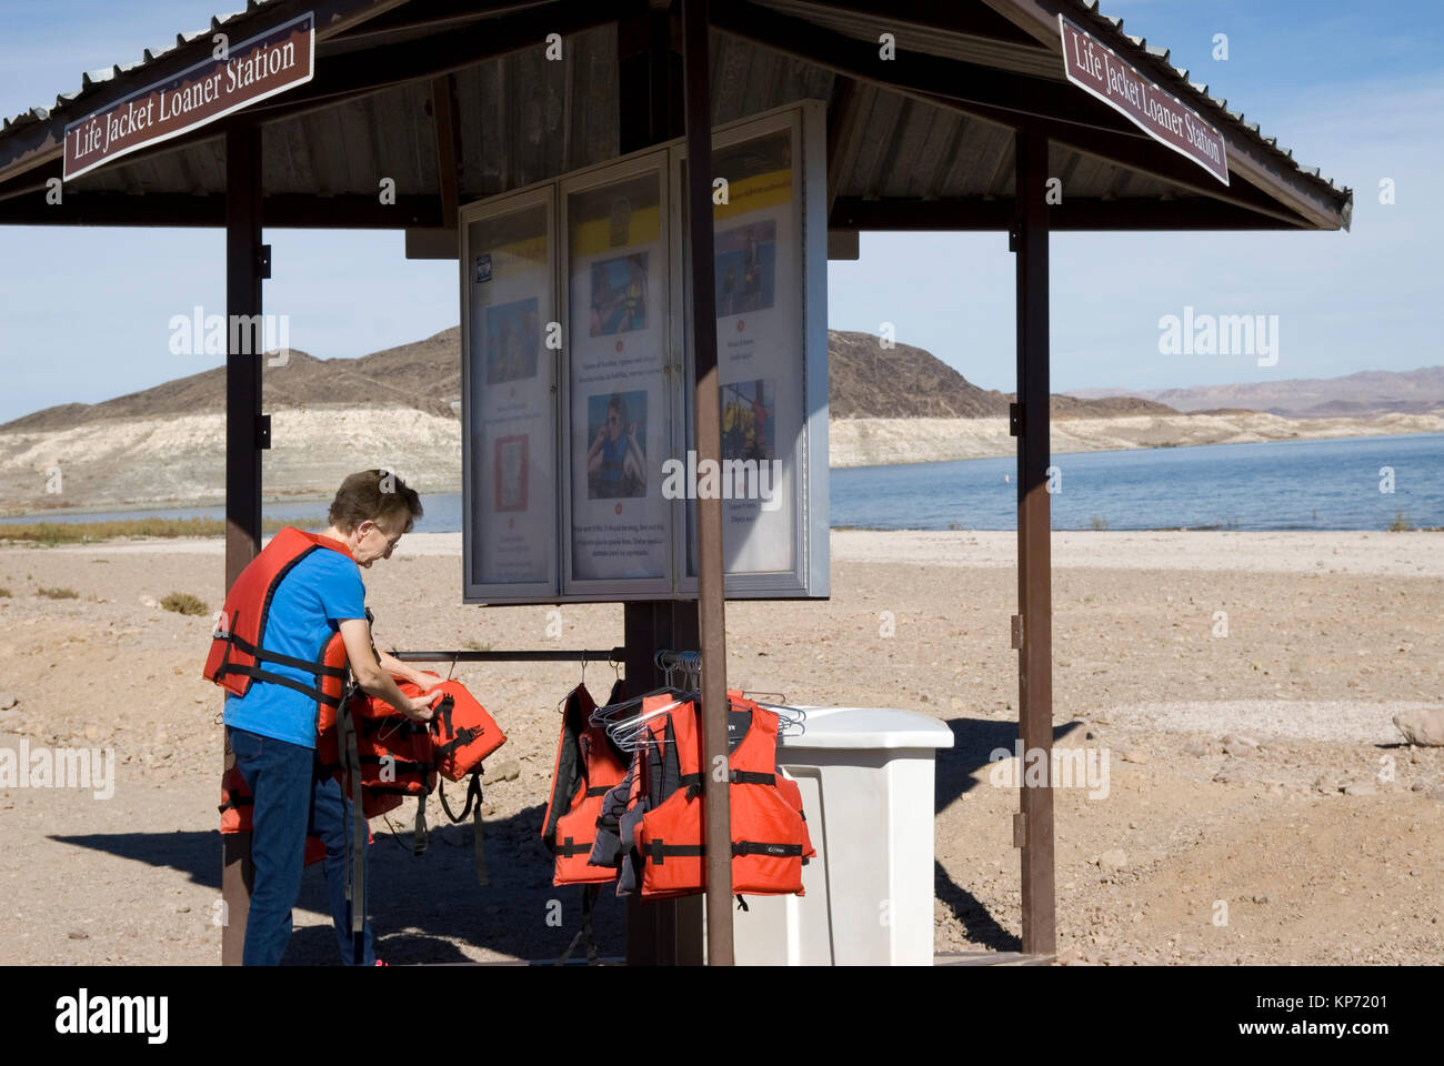
{"label": "corrugated metal roofing of the shelter, seen between dark beams", "polygon": [[[280,0],[250,3],[245,12],[215,16],[209,30],[178,35],[172,48],[146,49],[127,68],[111,66],[82,77],[79,91],[56,97],[55,108],[32,108],[6,121],[0,139],[38,121],[72,120],[87,113],[97,87],[169,55],[175,48],[224,29],[237,19]],[[972,64],[988,64],[1030,77],[1063,81],[1057,55],[1043,46],[995,40],[936,27],[914,26],[813,0],[757,0],[780,13],[804,17],[835,32],[877,40],[895,33],[898,46]],[[1187,71],[1167,62],[1167,49],[1122,35],[1122,20],[1096,12],[1096,3],[1069,0],[1074,17],[1126,52],[1141,69],[1200,111],[1214,111],[1246,133],[1261,152],[1278,157],[1291,172],[1327,185],[1337,198],[1346,191],[1318,178],[1317,168],[1297,163],[1256,123],[1226,110],[1207,95],[1206,85],[1187,81]],[[1019,35],[1021,36],[1021,35]],[[344,40],[344,38],[341,38]],[[546,61],[540,49],[487,59],[452,75],[461,143],[464,201],[494,195],[570,169],[609,159],[618,152],[617,27],[601,26],[567,38],[565,62]],[[325,59],[319,61],[322,65]],[[143,84],[143,78],[136,78]],[[723,123],[797,100],[829,100],[836,75],[778,51],[728,33],[712,35],[713,121]],[[859,85],[862,123],[856,143],[842,160],[838,195],[861,199],[1006,198],[1012,195],[1012,130],[960,116],[885,87]],[[435,194],[436,144],[429,117],[430,85],[416,81],[345,103],[267,123],[264,188],[267,194],[371,192],[381,178],[396,181],[399,194]],[[1053,146],[1054,165],[1069,176],[1070,195],[1188,196],[1170,182]],[[905,160],[904,165],[898,165]],[[225,189],[219,139],[182,149],[137,153],[78,179],[81,189],[113,192],[170,191],[218,194]]]}

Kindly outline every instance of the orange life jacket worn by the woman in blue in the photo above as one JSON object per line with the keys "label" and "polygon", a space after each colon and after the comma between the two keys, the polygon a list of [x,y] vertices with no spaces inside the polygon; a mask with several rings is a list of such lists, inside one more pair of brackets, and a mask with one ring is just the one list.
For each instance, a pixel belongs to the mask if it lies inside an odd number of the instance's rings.
{"label": "orange life jacket worn by the woman in blue", "polygon": [[[335,708],[347,676],[347,651],[341,634],[334,633],[310,660],[269,651],[266,621],[271,597],[296,563],[312,552],[331,549],[351,558],[345,545],[316,533],[305,533],[286,526],[241,571],[231,591],[225,594],[221,620],[211,640],[202,676],[237,696],[244,696],[253,680],[273,682],[312,696],[318,706]],[[264,663],[280,663],[316,676],[316,685],[274,673]]]}

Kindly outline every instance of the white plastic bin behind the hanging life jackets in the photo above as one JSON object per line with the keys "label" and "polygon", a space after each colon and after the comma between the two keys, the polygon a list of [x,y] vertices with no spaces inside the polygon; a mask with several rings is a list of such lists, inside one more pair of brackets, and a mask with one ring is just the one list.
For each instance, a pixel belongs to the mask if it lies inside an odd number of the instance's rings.
{"label": "white plastic bin behind the hanging life jackets", "polygon": [[806,896],[734,910],[738,963],[933,965],[933,767],[952,731],[888,708],[803,708],[783,740],[817,857]]}

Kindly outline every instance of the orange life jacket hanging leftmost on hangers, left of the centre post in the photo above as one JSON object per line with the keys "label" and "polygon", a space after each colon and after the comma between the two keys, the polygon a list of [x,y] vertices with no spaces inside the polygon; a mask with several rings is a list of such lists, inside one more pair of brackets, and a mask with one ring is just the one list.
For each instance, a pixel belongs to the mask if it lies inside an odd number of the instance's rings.
{"label": "orange life jacket hanging leftmost on hangers, left of the centre post", "polygon": [[542,841],[556,857],[552,884],[604,884],[617,878],[612,867],[588,865],[596,838],[602,797],[627,776],[627,763],[606,731],[591,724],[596,703],[578,685],[566,698],[562,735],[552,767]]}

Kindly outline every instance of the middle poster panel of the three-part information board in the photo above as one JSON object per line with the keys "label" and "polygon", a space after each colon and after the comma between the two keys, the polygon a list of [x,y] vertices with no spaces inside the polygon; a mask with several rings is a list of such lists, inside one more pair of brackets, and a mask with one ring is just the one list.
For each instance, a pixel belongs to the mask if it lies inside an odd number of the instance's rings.
{"label": "middle poster panel of the three-part information board", "polygon": [[566,196],[573,582],[670,579],[663,173]]}

